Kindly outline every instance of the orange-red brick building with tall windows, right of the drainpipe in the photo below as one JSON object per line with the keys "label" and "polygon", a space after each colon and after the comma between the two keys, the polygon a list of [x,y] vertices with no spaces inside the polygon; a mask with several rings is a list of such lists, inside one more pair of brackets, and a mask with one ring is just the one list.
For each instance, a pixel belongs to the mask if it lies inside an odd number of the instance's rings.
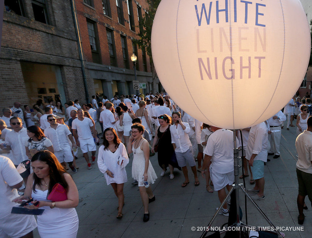
{"label": "orange-red brick building with tall windows, right of the drainpipe", "polygon": [[112,98],[114,94],[137,94],[133,89],[132,53],[137,56],[137,79],[149,91],[161,91],[159,80],[152,80],[145,50],[133,41],[140,31],[139,18],[146,11],[145,0],[76,0],[76,12],[86,67],[94,80],[96,93]]}

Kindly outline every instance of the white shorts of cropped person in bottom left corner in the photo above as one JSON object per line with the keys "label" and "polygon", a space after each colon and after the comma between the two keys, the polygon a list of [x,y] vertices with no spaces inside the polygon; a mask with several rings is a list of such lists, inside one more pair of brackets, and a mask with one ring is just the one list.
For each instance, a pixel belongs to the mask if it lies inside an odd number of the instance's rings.
{"label": "white shorts of cropped person in bottom left corner", "polygon": [[37,227],[35,217],[23,214],[8,214],[1,218],[0,237],[19,238]]}

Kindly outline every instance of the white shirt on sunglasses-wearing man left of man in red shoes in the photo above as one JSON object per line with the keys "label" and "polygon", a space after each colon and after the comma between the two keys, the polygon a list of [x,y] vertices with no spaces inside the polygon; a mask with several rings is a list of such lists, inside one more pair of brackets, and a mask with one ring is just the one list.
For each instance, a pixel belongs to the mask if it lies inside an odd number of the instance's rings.
{"label": "white shirt on sunglasses-wearing man left of man in red shoes", "polygon": [[50,124],[50,126],[44,130],[44,134],[51,140],[54,151],[70,148],[67,136],[71,135],[71,132],[66,125],[56,124],[56,129],[53,129]]}

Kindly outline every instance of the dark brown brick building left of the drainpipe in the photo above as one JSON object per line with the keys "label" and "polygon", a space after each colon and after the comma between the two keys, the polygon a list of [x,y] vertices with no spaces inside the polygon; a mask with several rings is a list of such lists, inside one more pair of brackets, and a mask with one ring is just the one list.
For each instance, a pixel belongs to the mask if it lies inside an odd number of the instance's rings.
{"label": "dark brown brick building left of the drainpipe", "polygon": [[[38,98],[85,102],[71,2],[5,0],[0,67],[1,108]],[[94,93],[87,69],[86,84]]]}

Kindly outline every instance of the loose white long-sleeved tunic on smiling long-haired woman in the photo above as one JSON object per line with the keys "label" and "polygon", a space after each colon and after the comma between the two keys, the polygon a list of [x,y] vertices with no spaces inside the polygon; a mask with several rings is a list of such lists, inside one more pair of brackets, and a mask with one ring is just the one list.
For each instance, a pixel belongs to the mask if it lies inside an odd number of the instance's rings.
{"label": "loose white long-sleeved tunic on smiling long-haired woman", "polygon": [[[119,164],[117,161],[119,159]],[[121,164],[121,161],[124,162]],[[104,150],[104,145],[99,148],[98,166],[100,171],[104,174],[106,183],[125,183],[128,181],[125,166],[129,163],[127,150],[123,143],[120,143],[117,150],[113,153],[109,149]],[[121,164],[121,166],[120,166]],[[108,176],[106,170],[109,170],[114,175],[114,178]]]}

